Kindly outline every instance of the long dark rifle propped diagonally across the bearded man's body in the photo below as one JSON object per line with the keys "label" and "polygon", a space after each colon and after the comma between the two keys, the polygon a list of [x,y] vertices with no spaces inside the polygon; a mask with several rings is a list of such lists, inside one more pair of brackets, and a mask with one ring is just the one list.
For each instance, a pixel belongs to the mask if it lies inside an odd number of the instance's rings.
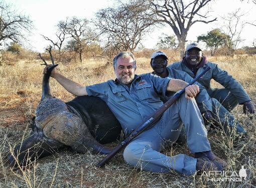
{"label": "long dark rifle propped diagonally across the bearded man's body", "polygon": [[[186,87],[193,85],[202,75],[204,75],[208,70],[210,70],[210,67],[207,67],[200,75],[198,75],[196,78],[194,78],[191,83],[189,83]],[[143,124],[141,124],[139,127],[137,127],[129,136],[127,136],[121,143],[119,143],[116,147],[112,149],[110,153],[108,153],[96,166],[101,167],[103,166],[107,161],[109,161],[122,147],[127,145],[129,142],[131,142],[136,136],[141,134],[145,129],[149,128],[151,125],[153,125],[160,117],[161,115],[182,95],[182,93],[185,91],[185,88],[183,88],[181,91],[175,93],[174,96],[172,96],[166,103],[164,103],[156,112],[154,112],[147,121],[145,121]]]}

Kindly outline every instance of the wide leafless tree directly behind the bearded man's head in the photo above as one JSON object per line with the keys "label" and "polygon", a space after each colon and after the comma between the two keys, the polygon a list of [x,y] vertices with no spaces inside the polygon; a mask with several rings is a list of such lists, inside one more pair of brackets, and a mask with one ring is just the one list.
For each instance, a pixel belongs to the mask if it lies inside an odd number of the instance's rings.
{"label": "wide leafless tree directly behind the bearded man's head", "polygon": [[110,52],[128,50],[133,52],[154,21],[148,14],[149,4],[146,1],[129,1],[113,8],[102,9],[96,14],[95,25],[106,39],[105,47]]}

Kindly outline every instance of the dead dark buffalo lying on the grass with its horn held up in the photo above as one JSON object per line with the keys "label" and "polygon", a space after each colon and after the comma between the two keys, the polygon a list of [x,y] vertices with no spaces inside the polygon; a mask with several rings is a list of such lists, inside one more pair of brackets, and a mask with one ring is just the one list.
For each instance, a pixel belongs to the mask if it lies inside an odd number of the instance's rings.
{"label": "dead dark buffalo lying on the grass with its horn held up", "polygon": [[56,66],[53,63],[43,76],[42,98],[32,120],[31,135],[8,154],[12,164],[24,166],[65,145],[77,152],[107,154],[111,148],[102,144],[120,136],[119,122],[101,99],[81,96],[65,103],[51,94],[49,78]]}

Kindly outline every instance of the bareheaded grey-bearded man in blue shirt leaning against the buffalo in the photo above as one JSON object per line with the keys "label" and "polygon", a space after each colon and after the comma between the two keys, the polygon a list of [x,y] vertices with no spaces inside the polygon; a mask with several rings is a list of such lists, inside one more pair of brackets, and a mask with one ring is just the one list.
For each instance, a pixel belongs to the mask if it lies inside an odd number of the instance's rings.
{"label": "bareheaded grey-bearded man in blue shirt leaning against the buffalo", "polygon": [[[187,85],[182,80],[160,78],[153,74],[135,75],[136,60],[130,52],[120,52],[115,56],[113,67],[115,80],[85,87],[65,78],[56,69],[52,71],[51,77],[76,96],[97,96],[104,100],[120,122],[125,135],[130,134],[163,105],[159,95],[165,96],[166,91],[177,92]],[[187,87],[185,94],[168,108],[152,128],[125,147],[124,160],[130,165],[155,172],[174,169],[191,175],[197,170],[223,170],[226,162],[212,153],[194,99],[198,92],[197,85]],[[182,128],[182,124],[187,144],[191,152],[195,153],[195,158],[185,154],[167,156],[160,152],[163,143],[178,139],[177,130]]]}

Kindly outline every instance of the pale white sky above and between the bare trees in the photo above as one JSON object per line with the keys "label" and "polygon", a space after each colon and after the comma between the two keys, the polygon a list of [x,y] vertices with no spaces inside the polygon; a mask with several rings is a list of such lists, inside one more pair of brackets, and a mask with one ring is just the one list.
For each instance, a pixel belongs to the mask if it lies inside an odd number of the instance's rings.
{"label": "pale white sky above and between the bare trees", "polygon": [[[18,12],[30,16],[35,26],[35,30],[31,31],[31,37],[29,38],[32,45],[30,48],[39,52],[43,52],[45,47],[49,45],[49,42],[44,40],[40,34],[53,38],[56,32],[55,26],[59,21],[73,16],[89,20],[94,17],[99,9],[112,6],[111,0],[5,0],[5,2],[14,5]],[[196,41],[197,36],[221,27],[223,21],[220,16],[225,16],[238,8],[245,14],[244,19],[246,22],[254,21],[254,24],[256,23],[256,5],[253,3],[247,3],[247,0],[243,3],[240,3],[239,0],[215,0],[211,3],[212,13],[210,15],[212,17],[210,18],[217,17],[218,21],[210,24],[197,23],[193,25],[188,32],[187,40]],[[162,29],[156,29],[143,41],[145,48],[154,48],[158,37],[162,33],[174,34],[168,25]],[[240,47],[251,46],[253,39],[256,39],[255,33],[256,27],[246,24],[241,34],[241,38],[245,39],[245,41],[240,44]]]}

